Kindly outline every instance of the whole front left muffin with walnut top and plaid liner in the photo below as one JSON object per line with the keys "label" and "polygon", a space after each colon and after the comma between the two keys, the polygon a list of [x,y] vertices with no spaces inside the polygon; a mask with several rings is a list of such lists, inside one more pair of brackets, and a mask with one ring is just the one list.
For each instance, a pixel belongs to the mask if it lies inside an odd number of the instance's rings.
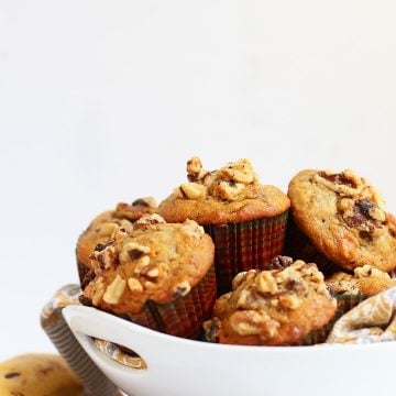
{"label": "whole front left muffin with walnut top and plaid liner", "polygon": [[197,338],[216,299],[215,245],[195,221],[157,215],[119,230],[92,254],[81,302],[172,336]]}

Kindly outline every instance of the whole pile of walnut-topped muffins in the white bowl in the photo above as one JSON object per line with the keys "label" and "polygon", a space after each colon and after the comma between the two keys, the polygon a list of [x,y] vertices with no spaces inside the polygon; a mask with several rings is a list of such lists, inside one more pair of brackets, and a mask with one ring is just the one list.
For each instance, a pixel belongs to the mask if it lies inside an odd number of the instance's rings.
{"label": "whole pile of walnut-topped muffins in the white bowl", "polygon": [[158,207],[119,204],[91,222],[82,304],[184,338],[300,345],[396,285],[396,220],[353,172],[300,172],[286,196],[248,160],[209,172],[193,157],[187,179]]}

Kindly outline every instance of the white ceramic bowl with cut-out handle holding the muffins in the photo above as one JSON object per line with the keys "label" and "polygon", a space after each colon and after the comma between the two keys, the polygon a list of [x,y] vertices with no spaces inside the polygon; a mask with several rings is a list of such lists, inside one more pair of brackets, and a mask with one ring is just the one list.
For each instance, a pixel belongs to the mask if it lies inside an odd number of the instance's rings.
{"label": "white ceramic bowl with cut-out handle holding the muffins", "polygon": [[[394,395],[396,342],[363,345],[237,346],[162,334],[99,311],[69,306],[64,317],[88,355],[128,395]],[[147,370],[124,366],[91,337],[139,353]]]}

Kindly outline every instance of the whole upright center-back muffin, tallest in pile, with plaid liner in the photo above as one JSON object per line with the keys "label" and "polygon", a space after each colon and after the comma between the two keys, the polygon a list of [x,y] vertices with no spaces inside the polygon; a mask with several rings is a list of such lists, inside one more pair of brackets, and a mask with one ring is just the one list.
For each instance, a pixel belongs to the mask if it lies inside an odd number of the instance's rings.
{"label": "whole upright center-back muffin, tallest in pile, with plaid liner", "polygon": [[289,199],[278,188],[262,185],[248,160],[218,170],[187,162],[187,178],[158,207],[168,222],[197,221],[216,245],[218,292],[231,289],[234,275],[265,268],[284,246]]}

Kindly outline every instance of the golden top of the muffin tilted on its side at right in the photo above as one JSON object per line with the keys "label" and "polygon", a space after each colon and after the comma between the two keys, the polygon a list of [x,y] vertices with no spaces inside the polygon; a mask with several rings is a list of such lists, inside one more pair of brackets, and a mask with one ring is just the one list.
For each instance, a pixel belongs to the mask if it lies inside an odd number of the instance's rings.
{"label": "golden top of the muffin tilted on its side at right", "polygon": [[310,242],[337,265],[396,266],[396,220],[378,191],[346,169],[302,170],[290,182],[293,219]]}

